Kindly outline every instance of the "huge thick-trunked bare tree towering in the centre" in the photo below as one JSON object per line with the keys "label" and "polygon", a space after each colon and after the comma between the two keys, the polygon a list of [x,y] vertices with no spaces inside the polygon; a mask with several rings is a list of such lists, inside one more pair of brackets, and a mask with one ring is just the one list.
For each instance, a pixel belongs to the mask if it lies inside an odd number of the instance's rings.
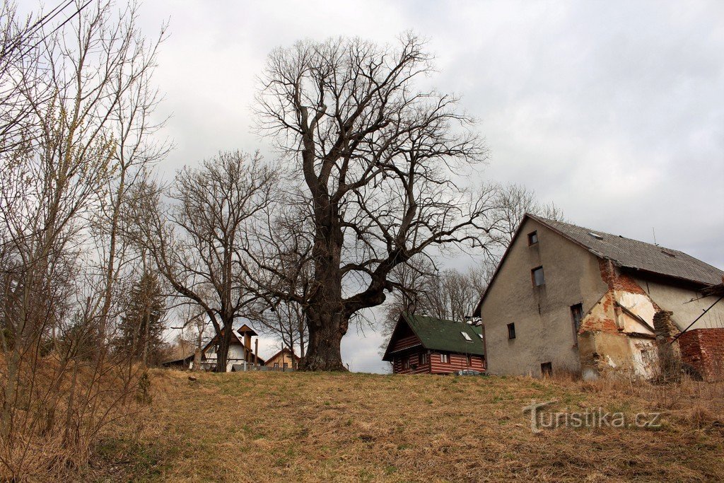
{"label": "huge thick-trunked bare tree towering in the centre", "polygon": [[395,266],[435,246],[487,246],[492,193],[454,182],[487,150],[457,98],[415,87],[431,61],[411,34],[396,48],[336,38],[269,55],[259,127],[295,164],[310,206],[308,293],[290,290],[277,254],[257,260],[274,275],[269,290],[304,308],[306,369],[345,370],[350,318],[384,302]]}

